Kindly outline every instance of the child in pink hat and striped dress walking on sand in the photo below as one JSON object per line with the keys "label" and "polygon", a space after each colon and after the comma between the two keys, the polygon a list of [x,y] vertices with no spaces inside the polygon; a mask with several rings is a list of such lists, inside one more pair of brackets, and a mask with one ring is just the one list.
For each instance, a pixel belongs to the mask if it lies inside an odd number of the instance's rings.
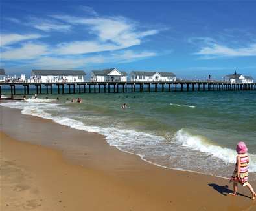
{"label": "child in pink hat and striped dress walking on sand", "polygon": [[248,151],[246,144],[242,141],[237,143],[237,163],[235,164],[235,170],[230,179],[233,182],[234,192],[231,193],[232,196],[237,196],[237,184],[240,183],[242,186],[247,186],[250,190],[252,197],[251,199],[255,199],[256,193],[254,192],[252,186],[248,182],[248,163],[249,157],[246,153]]}

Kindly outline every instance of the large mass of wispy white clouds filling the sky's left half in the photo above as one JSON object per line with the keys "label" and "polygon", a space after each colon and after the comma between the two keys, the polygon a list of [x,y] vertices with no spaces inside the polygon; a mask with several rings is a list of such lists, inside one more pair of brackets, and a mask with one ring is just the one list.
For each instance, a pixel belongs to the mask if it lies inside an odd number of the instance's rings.
{"label": "large mass of wispy white clouds filling the sky's left half", "polygon": [[[130,47],[141,45],[145,37],[161,30],[141,30],[139,23],[126,17],[100,17],[93,8],[81,9],[90,16],[28,17],[25,25],[47,32],[49,38],[53,36],[52,31],[76,33],[76,28],[79,28],[80,34],[84,30],[84,39],[72,40],[69,36],[67,41],[61,43],[54,43],[56,39],[43,43],[33,41],[43,37],[40,34],[5,34],[2,43],[6,48],[1,52],[1,59],[21,64],[26,62],[38,68],[78,68],[95,63],[126,63],[157,55],[154,51],[132,50]],[[80,34],[78,37],[81,37]],[[16,45],[12,45],[14,43]]]}

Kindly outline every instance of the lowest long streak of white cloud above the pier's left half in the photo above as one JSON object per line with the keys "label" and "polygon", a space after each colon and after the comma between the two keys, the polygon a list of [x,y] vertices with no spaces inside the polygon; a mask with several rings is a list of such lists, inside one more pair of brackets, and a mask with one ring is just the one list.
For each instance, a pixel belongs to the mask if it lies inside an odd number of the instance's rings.
{"label": "lowest long streak of white cloud above the pier's left half", "polygon": [[[30,48],[29,48],[30,47]],[[26,55],[22,55],[22,52],[26,52]],[[32,56],[34,55],[34,57]],[[40,56],[39,56],[40,55]],[[121,50],[113,54],[106,55],[93,55],[93,56],[84,56],[84,55],[49,55],[47,52],[47,46],[23,46],[14,52],[8,52],[4,57],[8,59],[10,57],[16,56],[19,58],[19,61],[27,59],[26,65],[33,66],[34,68],[61,68],[61,69],[70,69],[70,68],[84,68],[84,66],[95,65],[100,63],[128,63],[131,61],[137,61],[139,59],[145,59],[148,57],[156,56],[156,52],[149,51],[132,51],[132,50]],[[21,62],[21,64],[24,64]]]}

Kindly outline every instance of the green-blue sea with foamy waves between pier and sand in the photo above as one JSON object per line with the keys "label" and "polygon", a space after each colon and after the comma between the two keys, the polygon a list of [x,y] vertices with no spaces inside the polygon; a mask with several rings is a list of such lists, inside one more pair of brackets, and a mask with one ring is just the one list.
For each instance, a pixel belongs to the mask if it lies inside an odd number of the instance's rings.
{"label": "green-blue sea with foamy waves between pier and sand", "polygon": [[[1,103],[23,114],[97,132],[119,150],[163,168],[230,177],[244,141],[256,180],[256,92],[40,95]],[[56,100],[59,97],[59,100]],[[82,103],[71,103],[71,98]],[[69,98],[69,100],[67,100]],[[122,103],[128,108],[121,109]]]}

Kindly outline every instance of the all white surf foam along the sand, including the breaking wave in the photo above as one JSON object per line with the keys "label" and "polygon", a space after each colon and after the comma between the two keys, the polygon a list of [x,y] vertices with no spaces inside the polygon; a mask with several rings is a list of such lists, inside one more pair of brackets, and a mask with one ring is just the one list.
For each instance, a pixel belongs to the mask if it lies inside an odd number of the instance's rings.
{"label": "all white surf foam along the sand, including the breaking wave", "polygon": [[[173,150],[174,148],[176,148],[178,151],[183,150],[184,148],[187,149],[184,151],[185,155],[187,155],[187,153],[189,154],[188,150],[196,150],[198,153],[200,152],[201,154],[207,154],[209,157],[220,159],[220,165],[222,165],[221,161],[224,161],[224,164],[235,163],[235,150],[213,145],[213,143],[209,143],[209,141],[207,141],[207,139],[204,137],[193,136],[189,134],[189,132],[186,132],[184,129],[178,130],[178,132],[176,132],[176,136],[174,137],[174,142],[168,143],[164,137],[157,136],[154,133],[137,132],[135,130],[123,129],[118,126],[90,126],[85,125],[82,121],[73,119],[73,117],[52,116],[49,114],[49,112],[47,112],[47,110],[55,111],[65,108],[61,107],[60,104],[51,103],[51,101],[51,99],[40,99],[39,101],[36,99],[36,101],[16,101],[1,103],[0,105],[10,108],[18,108],[21,109],[22,114],[38,116],[44,119],[51,119],[60,125],[69,126],[71,128],[75,128],[76,130],[85,130],[88,132],[96,132],[102,134],[106,136],[106,141],[110,146],[115,146],[119,150],[128,152],[130,154],[136,154],[144,161],[157,166],[161,166],[163,168],[176,170],[191,169],[191,172],[195,172],[191,167],[187,166],[189,165],[187,156],[180,159],[181,163],[178,163],[178,166],[182,166],[182,168],[171,168],[168,163],[166,163],[166,165],[161,165],[161,162],[159,163],[149,161],[150,157],[152,158],[152,156],[161,157],[163,155],[167,155],[179,157],[179,155],[176,154],[170,155],[170,150]],[[198,162],[200,163],[200,161]],[[202,168],[202,171],[204,171],[204,168]],[[250,154],[250,171],[256,172],[256,156],[253,154]]]}

